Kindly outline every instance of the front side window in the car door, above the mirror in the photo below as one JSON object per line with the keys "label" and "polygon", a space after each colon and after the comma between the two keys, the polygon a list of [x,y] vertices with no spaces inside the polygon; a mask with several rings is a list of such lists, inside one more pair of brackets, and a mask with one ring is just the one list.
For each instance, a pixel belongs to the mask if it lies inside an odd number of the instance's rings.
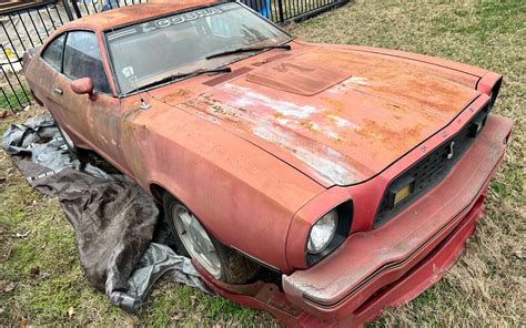
{"label": "front side window in the car door, above the mirror", "polygon": [[71,80],[91,78],[97,91],[111,93],[93,32],[70,32],[65,41],[63,73]]}

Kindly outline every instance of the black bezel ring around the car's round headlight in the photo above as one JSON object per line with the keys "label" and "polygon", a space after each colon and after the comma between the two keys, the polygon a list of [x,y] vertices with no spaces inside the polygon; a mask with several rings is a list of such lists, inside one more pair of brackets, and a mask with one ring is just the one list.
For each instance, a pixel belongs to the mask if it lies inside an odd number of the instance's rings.
{"label": "black bezel ring around the car's round headlight", "polygon": [[[312,233],[312,227],[325,215],[331,213],[332,211],[336,211],[337,213],[337,224],[336,224],[336,230],[333,234],[333,237],[331,242],[327,244],[326,247],[324,247],[322,250],[318,253],[310,253],[308,252],[308,239],[311,237]],[[311,228],[308,230],[308,234],[306,236],[305,240],[305,246],[304,246],[304,254],[305,254],[305,263],[307,266],[312,266],[320,262],[322,258],[331,254],[334,249],[337,248],[348,236],[350,230],[351,230],[351,225],[353,222],[353,214],[354,214],[354,204],[352,199],[347,199],[345,202],[342,202],[341,204],[334,206],[333,208],[326,211],[320,218],[317,218],[314,224],[311,225]]]}

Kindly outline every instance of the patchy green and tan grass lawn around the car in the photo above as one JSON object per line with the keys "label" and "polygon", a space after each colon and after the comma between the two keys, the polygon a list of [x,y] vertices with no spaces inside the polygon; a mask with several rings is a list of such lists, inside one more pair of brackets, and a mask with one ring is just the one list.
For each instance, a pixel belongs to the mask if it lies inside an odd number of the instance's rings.
{"label": "patchy green and tan grass lawn around the car", "polygon": [[[409,304],[387,309],[374,326],[526,325],[526,2],[456,2],[358,0],[287,27],[307,41],[425,53],[505,75],[495,112],[513,117],[516,127],[490,184],[487,215],[441,283]],[[42,112],[33,107],[0,121],[0,132]],[[270,315],[163,283],[138,315],[110,306],[103,294],[88,285],[73,229],[58,202],[32,191],[4,152],[0,152],[0,326],[276,324]],[[31,233],[16,237],[21,230]],[[34,267],[50,277],[31,277]]]}

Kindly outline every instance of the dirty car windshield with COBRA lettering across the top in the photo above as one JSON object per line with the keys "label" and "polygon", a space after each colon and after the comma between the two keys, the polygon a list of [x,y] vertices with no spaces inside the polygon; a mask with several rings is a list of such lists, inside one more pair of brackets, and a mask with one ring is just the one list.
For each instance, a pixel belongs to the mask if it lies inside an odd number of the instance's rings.
{"label": "dirty car windshield with COBRA lettering across the top", "polygon": [[121,94],[256,52],[206,59],[213,54],[287,40],[290,35],[239,3],[200,8],[107,32]]}

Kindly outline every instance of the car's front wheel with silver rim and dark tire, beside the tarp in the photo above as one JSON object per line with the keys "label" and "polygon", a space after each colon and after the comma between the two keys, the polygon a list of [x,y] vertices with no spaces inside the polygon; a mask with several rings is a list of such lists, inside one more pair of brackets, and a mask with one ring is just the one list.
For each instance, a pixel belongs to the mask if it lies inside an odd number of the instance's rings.
{"label": "car's front wheel with silver rim and dark tire, beside the tarp", "polygon": [[195,259],[215,279],[226,284],[246,284],[257,275],[257,264],[215,239],[186,206],[168,193],[163,204],[180,255]]}

